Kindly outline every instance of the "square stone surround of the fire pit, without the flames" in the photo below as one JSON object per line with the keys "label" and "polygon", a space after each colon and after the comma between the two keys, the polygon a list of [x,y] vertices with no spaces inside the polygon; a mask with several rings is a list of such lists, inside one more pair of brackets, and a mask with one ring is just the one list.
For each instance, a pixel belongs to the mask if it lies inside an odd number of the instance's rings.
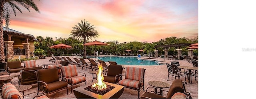
{"label": "square stone surround of the fire pit, without the flames", "polygon": [[97,99],[119,98],[122,95],[122,93],[124,92],[124,86],[116,85],[116,84],[108,83],[108,82],[105,82],[106,85],[113,86],[114,89],[108,91],[104,95],[99,95],[97,93],[94,93],[94,92],[91,92],[91,91],[88,91],[85,89],[86,87],[93,85],[96,82],[97,81],[93,81],[91,83],[88,83],[86,85],[82,85],[80,87],[73,89],[74,95],[76,96],[76,98],[97,98]]}

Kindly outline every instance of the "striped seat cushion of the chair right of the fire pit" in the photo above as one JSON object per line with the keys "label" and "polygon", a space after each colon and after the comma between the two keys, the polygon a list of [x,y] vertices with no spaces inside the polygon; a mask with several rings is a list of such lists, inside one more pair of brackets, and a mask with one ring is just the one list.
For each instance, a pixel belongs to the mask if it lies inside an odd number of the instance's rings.
{"label": "striped seat cushion of the chair right of the fire pit", "polygon": [[[139,81],[138,80],[132,80],[132,79],[123,79],[119,81],[120,85],[133,87],[133,88],[139,88]],[[140,83],[142,84],[142,83]],[[142,86],[142,85],[141,85]]]}

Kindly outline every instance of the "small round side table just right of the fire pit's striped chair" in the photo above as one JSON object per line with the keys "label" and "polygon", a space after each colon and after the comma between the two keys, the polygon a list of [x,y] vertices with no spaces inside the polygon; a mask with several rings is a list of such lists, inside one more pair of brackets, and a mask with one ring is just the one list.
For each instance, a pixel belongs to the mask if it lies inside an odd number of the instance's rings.
{"label": "small round side table just right of the fire pit's striped chair", "polygon": [[[157,87],[160,89],[168,88],[171,86],[170,84],[162,82],[162,81],[148,81],[148,85],[151,85],[153,87]],[[158,92],[157,89],[155,88],[155,93],[156,94],[159,93],[158,95],[163,95],[163,90],[160,90],[160,92]]]}

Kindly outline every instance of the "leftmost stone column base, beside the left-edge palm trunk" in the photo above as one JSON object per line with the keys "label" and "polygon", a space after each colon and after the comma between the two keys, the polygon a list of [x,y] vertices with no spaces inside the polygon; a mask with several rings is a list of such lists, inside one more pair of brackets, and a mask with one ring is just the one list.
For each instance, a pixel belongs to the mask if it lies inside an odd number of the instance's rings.
{"label": "leftmost stone column base, beside the left-edge palm trunk", "polygon": [[13,43],[14,41],[4,41],[4,47],[6,48],[7,59],[14,59]]}

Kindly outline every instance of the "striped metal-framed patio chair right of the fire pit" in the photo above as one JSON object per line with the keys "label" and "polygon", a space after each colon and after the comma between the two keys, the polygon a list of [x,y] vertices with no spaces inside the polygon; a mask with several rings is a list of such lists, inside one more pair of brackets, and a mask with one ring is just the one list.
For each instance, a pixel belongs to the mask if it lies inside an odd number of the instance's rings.
{"label": "striped metal-framed patio chair right of the fire pit", "polygon": [[134,90],[138,90],[138,98],[140,96],[140,90],[143,89],[144,90],[144,75],[145,75],[145,71],[146,69],[144,68],[139,68],[139,67],[126,67],[126,73],[125,75],[125,79],[121,80],[120,76],[118,78],[118,84],[119,85],[123,85],[124,87],[130,88],[130,89],[134,89]]}

